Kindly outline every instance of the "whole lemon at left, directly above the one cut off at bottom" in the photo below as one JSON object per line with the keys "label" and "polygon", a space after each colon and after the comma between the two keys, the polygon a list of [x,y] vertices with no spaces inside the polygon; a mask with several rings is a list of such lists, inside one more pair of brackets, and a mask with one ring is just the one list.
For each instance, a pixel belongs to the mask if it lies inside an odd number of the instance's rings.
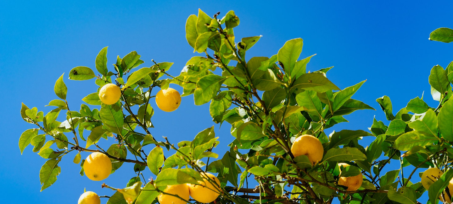
{"label": "whole lemon at left, directly above the one cut off at bottom", "polygon": [[83,163],[83,171],[91,180],[104,180],[112,171],[112,163],[104,153],[93,152]]}

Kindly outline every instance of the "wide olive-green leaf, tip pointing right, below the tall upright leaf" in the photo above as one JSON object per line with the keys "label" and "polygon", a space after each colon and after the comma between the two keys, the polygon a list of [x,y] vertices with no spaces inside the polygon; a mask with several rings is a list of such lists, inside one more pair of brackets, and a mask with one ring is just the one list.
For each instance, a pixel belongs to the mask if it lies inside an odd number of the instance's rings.
{"label": "wide olive-green leaf, tip pointing right, below the tall upright leaf", "polygon": [[328,90],[340,90],[340,88],[334,85],[325,76],[316,72],[303,74],[297,78],[294,81],[291,90],[294,90],[294,88],[314,90],[319,93],[326,92]]}

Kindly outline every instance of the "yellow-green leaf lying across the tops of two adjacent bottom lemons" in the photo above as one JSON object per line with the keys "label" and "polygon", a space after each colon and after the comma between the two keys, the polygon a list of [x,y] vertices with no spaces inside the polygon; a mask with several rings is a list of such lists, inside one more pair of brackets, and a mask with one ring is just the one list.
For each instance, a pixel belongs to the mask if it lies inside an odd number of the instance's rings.
{"label": "yellow-green leaf lying across the tops of two adjacent bottom lemons", "polygon": [[197,184],[197,180],[180,169],[164,169],[160,171],[155,184],[156,186]]}

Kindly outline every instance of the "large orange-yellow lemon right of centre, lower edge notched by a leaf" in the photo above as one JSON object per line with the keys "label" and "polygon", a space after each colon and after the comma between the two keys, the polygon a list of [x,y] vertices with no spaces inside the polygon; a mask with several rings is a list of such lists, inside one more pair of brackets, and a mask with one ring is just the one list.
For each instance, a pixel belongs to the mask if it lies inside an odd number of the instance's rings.
{"label": "large orange-yellow lemon right of centre, lower edge notched by a leaf", "polygon": [[302,135],[294,140],[291,152],[294,157],[306,155],[308,160],[315,165],[323,159],[324,148],[319,139],[313,135]]}

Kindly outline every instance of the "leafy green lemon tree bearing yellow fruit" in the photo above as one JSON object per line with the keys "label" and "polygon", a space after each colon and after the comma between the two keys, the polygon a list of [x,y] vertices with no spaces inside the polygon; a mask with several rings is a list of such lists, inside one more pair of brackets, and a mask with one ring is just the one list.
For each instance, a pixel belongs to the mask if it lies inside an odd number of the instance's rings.
{"label": "leafy green lemon tree bearing yellow fruit", "polygon": [[[352,98],[365,81],[335,85],[328,78],[332,67],[308,66],[313,55],[299,59],[301,38],[288,40],[273,56],[246,57],[261,36],[236,38],[239,17],[234,11],[219,15],[198,10],[188,17],[185,37],[202,56],[188,59],[179,76],[167,73],[171,62],[143,66],[135,51],[107,66],[104,47],[96,56],[97,73],[77,66],[66,75],[93,82],[80,109],[66,100],[71,93],[64,74],[54,86],[58,99],[48,104],[52,111],[22,104],[20,115],[34,128],[19,137],[19,149],[31,145],[46,159],[41,190],[57,181],[59,162],[72,159],[80,176],[115,190],[103,196],[107,204],[415,204],[423,194],[432,204],[451,200],[453,62],[445,69],[434,66],[428,77],[437,107],[422,96],[394,114],[390,98],[382,96],[376,101],[387,121],[370,119],[369,131],[326,133],[347,122],[345,115],[373,109]],[[452,42],[453,30],[439,28],[430,39]],[[231,125],[231,142],[219,144],[212,124],[194,127],[202,131],[192,140],[154,138],[152,99],[159,109],[173,111],[181,96],[209,104],[214,123]],[[111,145],[101,147],[100,140]],[[217,152],[219,145],[229,150]],[[92,154],[82,159],[81,152]],[[110,186],[108,176],[124,162],[135,165],[137,176],[125,186]],[[390,162],[397,167],[389,170]],[[426,175],[417,175],[421,171]],[[415,182],[419,176],[422,181]],[[79,203],[98,199],[86,192]]]}

